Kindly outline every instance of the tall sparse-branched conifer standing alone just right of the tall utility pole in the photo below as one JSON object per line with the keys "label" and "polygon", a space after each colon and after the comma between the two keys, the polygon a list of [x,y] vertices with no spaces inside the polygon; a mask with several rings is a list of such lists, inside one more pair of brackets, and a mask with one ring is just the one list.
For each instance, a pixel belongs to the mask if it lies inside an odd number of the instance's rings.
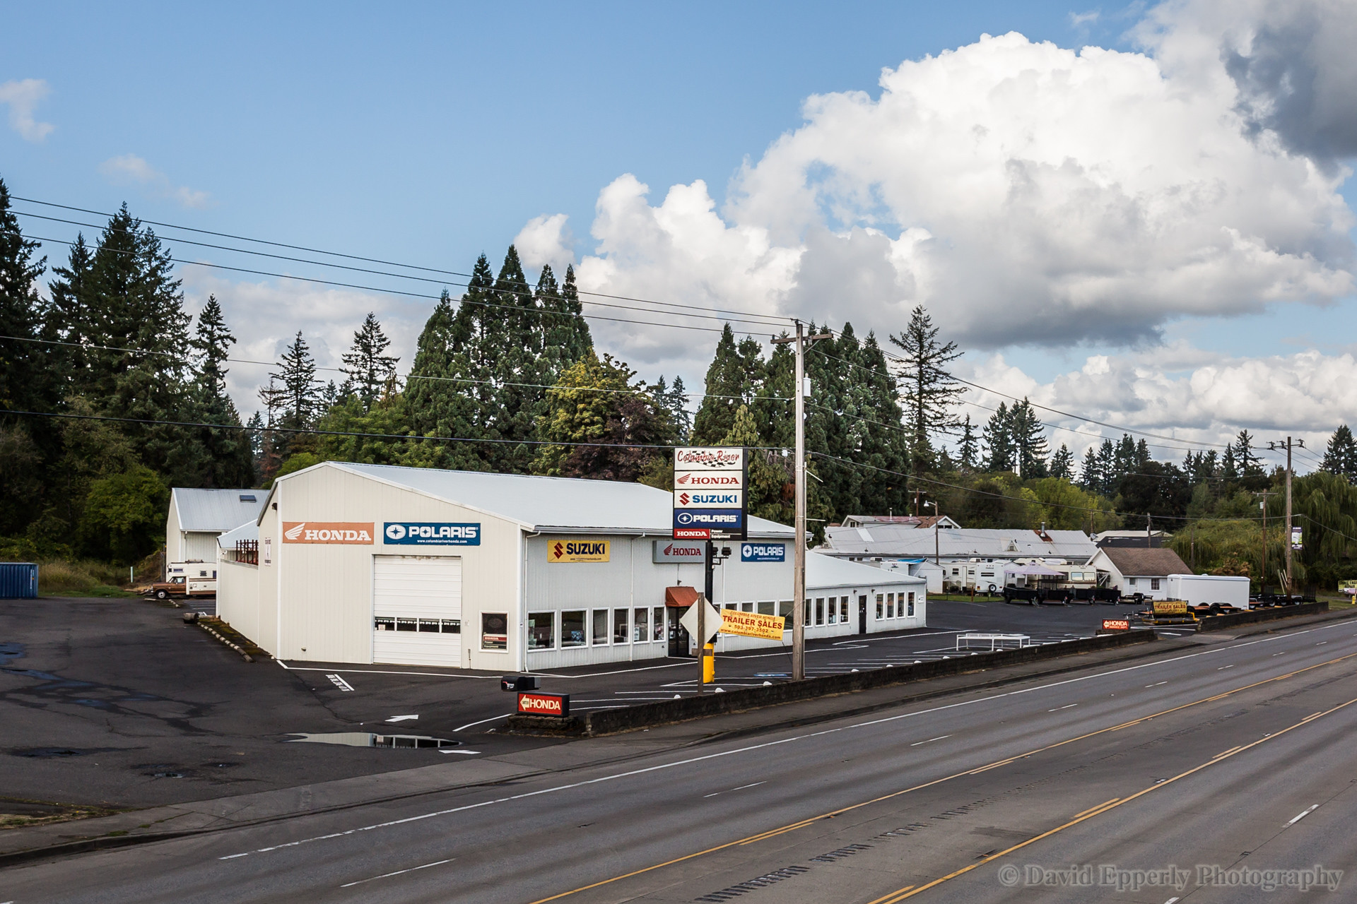
{"label": "tall sparse-branched conifer standing alone just right of the tall utility pole", "polygon": [[965,388],[947,365],[962,352],[957,343],[938,340],[938,327],[923,305],[913,309],[909,324],[898,336],[890,336],[890,342],[904,352],[898,375],[911,451],[916,462],[930,461],[930,436],[953,432],[961,426],[951,409]]}

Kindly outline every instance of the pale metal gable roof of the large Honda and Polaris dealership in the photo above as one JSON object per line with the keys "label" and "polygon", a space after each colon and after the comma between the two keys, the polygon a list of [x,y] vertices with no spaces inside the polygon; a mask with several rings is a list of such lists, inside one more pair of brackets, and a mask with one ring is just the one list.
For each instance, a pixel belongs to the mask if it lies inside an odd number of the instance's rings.
{"label": "pale metal gable roof of the large Honda and Polaris dealership", "polygon": [[[491,474],[476,470],[438,470],[395,465],[358,465],[327,461],[280,477],[277,487],[319,468],[413,489],[446,503],[517,522],[531,531],[589,530],[613,534],[669,534],[673,530],[673,493],[612,480]],[[239,523],[239,522],[237,522]],[[791,538],[791,527],[763,518],[749,519],[749,535]]]}

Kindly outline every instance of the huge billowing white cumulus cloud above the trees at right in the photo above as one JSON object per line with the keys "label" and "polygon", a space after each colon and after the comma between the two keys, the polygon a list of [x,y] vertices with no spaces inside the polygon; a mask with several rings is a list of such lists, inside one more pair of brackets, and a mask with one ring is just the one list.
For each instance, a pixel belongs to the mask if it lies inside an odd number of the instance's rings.
{"label": "huge billowing white cumulus cloud above the trees at right", "polygon": [[702,182],[654,206],[620,176],[581,278],[859,331],[924,304],[988,348],[1139,347],[1181,316],[1349,295],[1349,171],[1240,111],[1216,24],[1163,22],[1153,53],[985,35],[885,70],[878,96],[811,96],[719,213]]}

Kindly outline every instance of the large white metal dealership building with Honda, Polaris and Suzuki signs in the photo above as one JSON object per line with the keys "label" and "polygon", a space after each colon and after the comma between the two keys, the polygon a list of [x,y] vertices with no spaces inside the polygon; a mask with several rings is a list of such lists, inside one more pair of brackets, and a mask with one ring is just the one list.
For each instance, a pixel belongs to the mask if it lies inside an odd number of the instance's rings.
{"label": "large white metal dealership building with Honda, Polaris and Suzuki signs", "polygon": [[[288,660],[536,671],[685,655],[677,622],[703,567],[700,543],[672,539],[672,507],[643,484],[324,462],[274,482],[258,564],[221,548],[217,611]],[[712,602],[790,615],[791,541],[752,518],[746,543],[718,543],[731,556]],[[813,556],[806,634],[923,626],[923,591]]]}

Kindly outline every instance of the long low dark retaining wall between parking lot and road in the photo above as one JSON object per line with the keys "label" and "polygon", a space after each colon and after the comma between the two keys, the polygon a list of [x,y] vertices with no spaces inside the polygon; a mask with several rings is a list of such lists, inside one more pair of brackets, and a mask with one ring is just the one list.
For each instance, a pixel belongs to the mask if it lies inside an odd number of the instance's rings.
{"label": "long low dark retaining wall between parking lot and road", "polygon": [[[573,725],[562,726],[566,732],[588,735],[612,735],[616,732],[631,732],[651,725],[666,725],[670,722],[684,722],[708,716],[722,716],[738,713],[779,703],[794,703],[797,701],[816,697],[830,697],[835,694],[851,694],[854,691],[870,690],[873,687],[887,687],[892,684],[905,684],[908,682],[927,678],[942,678],[944,675],[961,675],[1001,665],[1018,665],[1034,663],[1045,659],[1058,659],[1072,653],[1091,653],[1102,649],[1130,646],[1132,644],[1145,644],[1155,640],[1153,632],[1125,632],[1117,634],[1102,634],[1099,637],[1086,637],[1082,640],[1063,641],[1058,644],[1045,644],[1041,646],[1025,646],[1022,649],[996,651],[993,653],[958,655],[951,659],[940,659],[931,663],[915,663],[912,665],[897,665],[892,668],[874,668],[870,671],[847,672],[843,675],[824,675],[821,678],[807,678],[799,682],[783,682],[765,687],[741,687],[723,694],[703,694],[700,697],[684,697],[680,699],[666,699],[654,703],[641,703],[620,709],[603,709],[584,713],[579,717],[563,720]],[[524,733],[539,733],[541,726],[536,722],[520,721],[524,717],[512,716],[509,731]]]}

